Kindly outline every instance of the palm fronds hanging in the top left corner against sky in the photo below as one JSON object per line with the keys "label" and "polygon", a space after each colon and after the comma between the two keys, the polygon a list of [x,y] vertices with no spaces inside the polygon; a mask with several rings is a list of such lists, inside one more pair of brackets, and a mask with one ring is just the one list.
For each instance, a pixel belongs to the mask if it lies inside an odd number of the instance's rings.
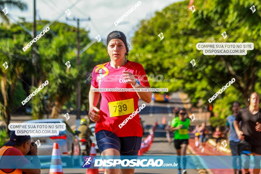
{"label": "palm fronds hanging in the top left corner against sky", "polygon": [[7,23],[9,23],[9,19],[4,15],[2,10],[5,7],[9,8],[18,8],[20,10],[26,10],[27,9],[27,4],[21,1],[13,1],[13,0],[0,0],[0,17]]}

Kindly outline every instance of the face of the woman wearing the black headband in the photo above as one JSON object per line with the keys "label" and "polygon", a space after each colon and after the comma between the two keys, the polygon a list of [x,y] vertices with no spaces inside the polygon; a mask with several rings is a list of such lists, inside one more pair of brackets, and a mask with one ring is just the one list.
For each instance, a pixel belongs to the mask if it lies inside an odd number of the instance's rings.
{"label": "face of the woman wearing the black headband", "polygon": [[[120,62],[125,59],[126,47],[122,40],[112,39],[108,44],[108,53],[112,61]],[[118,55],[115,55],[118,54]]]}

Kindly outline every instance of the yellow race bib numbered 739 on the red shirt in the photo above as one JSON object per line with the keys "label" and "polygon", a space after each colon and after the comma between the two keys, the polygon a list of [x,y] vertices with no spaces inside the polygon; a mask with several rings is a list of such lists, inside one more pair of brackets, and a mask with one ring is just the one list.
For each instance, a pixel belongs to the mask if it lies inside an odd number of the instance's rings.
{"label": "yellow race bib numbered 739 on the red shirt", "polygon": [[134,112],[133,98],[109,102],[110,117],[132,114]]}

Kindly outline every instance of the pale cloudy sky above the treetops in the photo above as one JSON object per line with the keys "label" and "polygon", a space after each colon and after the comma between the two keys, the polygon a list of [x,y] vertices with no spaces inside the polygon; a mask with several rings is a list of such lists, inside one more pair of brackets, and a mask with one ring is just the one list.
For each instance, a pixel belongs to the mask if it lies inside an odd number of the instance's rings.
{"label": "pale cloudy sky above the treetops", "polygon": [[[28,5],[28,9],[21,11],[15,8],[8,8],[8,14],[12,15],[17,22],[21,21],[18,17],[25,17],[26,21],[33,21],[33,0],[21,0]],[[59,17],[59,22],[77,26],[76,21],[66,21],[65,11],[69,8],[73,17],[88,19],[90,21],[80,21],[80,28],[90,30],[89,37],[94,39],[98,34],[101,39],[106,40],[107,35],[114,30],[122,31],[130,43],[131,37],[134,35],[134,28],[141,19],[147,19],[154,16],[156,11],[161,11],[170,4],[180,0],[141,0],[141,4],[136,7],[122,22],[115,26],[122,15],[128,12],[138,1],[130,0],[36,0],[37,20],[55,21]],[[71,7],[76,4],[74,7]],[[71,7],[71,8],[70,8]],[[15,22],[12,19],[11,22]],[[28,28],[32,31],[32,28]]]}

